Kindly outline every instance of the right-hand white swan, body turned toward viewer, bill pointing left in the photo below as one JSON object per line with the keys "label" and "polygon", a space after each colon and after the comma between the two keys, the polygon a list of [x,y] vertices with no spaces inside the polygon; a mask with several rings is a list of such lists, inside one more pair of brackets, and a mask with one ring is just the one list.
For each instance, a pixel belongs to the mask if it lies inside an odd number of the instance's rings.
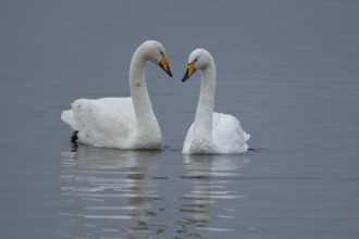
{"label": "right-hand white swan, body turned toward viewer, bill pointing left", "polygon": [[201,71],[201,87],[195,122],[190,125],[183,144],[183,154],[235,154],[248,150],[245,133],[239,121],[230,114],[215,113],[215,64],[205,49],[194,50],[182,81],[187,80],[197,70]]}

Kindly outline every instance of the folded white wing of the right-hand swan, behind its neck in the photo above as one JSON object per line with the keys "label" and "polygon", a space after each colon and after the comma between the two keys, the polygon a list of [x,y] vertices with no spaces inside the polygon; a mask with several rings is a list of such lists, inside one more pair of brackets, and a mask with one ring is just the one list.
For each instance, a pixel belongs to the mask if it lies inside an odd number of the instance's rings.
{"label": "folded white wing of the right-hand swan, behind its neck", "polygon": [[212,140],[219,153],[242,153],[248,150],[250,135],[239,121],[230,114],[213,113]]}

